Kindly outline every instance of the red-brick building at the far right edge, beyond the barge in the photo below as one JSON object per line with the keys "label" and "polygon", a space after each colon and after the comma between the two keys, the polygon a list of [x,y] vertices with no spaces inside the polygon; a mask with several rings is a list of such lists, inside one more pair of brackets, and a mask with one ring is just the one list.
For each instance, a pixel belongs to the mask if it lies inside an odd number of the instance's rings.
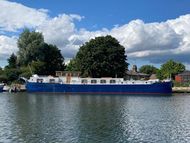
{"label": "red-brick building at the far right edge, beyond the barge", "polygon": [[180,83],[190,82],[190,71],[184,71],[175,76],[175,81]]}

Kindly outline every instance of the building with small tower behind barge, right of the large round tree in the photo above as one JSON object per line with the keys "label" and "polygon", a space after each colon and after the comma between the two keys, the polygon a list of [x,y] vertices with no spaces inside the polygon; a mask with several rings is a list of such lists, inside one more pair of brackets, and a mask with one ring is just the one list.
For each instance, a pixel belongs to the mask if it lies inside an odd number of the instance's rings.
{"label": "building with small tower behind barge, right of the large round tree", "polygon": [[137,66],[133,65],[132,69],[129,71],[126,71],[125,79],[130,80],[140,80],[140,79],[149,79],[150,75],[145,73],[140,73],[137,71]]}

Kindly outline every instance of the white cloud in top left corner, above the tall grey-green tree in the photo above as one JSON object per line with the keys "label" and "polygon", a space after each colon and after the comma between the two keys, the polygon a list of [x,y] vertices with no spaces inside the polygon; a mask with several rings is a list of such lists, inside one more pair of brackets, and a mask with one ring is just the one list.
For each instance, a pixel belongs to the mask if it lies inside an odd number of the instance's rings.
{"label": "white cloud in top left corner, above the tall grey-green tree", "polygon": [[34,9],[22,4],[0,1],[0,30],[17,31],[23,27],[35,28],[48,19],[45,9]]}

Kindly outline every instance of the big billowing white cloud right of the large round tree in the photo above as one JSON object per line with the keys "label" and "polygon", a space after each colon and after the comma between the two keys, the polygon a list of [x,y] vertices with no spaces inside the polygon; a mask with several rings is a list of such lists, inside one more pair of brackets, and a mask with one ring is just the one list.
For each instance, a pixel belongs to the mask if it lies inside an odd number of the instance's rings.
{"label": "big billowing white cloud right of the large round tree", "polygon": [[130,59],[163,63],[174,59],[189,63],[190,14],[161,23],[134,20],[113,28],[110,34],[126,48]]}

